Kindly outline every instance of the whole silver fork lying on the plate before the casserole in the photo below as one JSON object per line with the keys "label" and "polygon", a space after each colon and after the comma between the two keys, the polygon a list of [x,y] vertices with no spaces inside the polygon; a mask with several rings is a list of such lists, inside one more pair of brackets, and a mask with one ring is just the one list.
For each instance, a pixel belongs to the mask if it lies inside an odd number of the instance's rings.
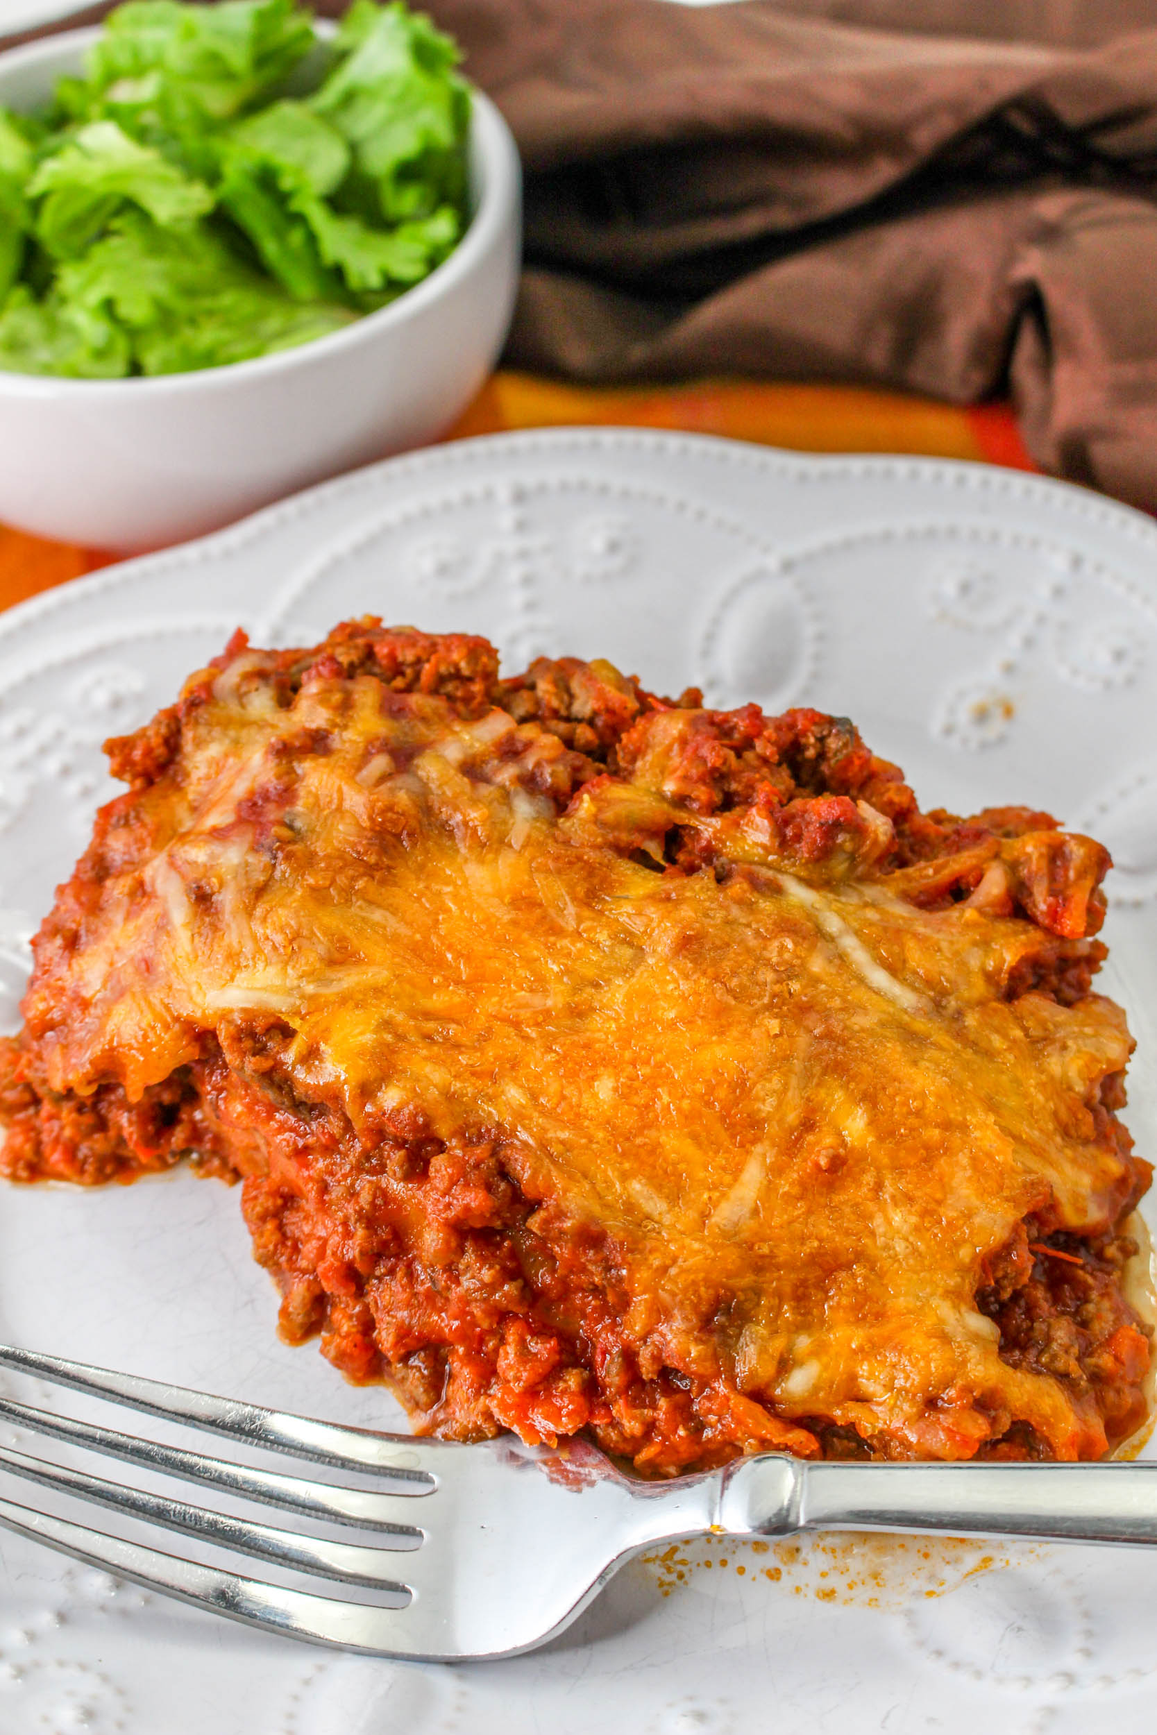
{"label": "whole silver fork lying on the plate before the casserole", "polygon": [[284,1475],[0,1398],[0,1416],[19,1428],[298,1518],[356,1527],[373,1541],[284,1530],[0,1447],[0,1466],[14,1475],[310,1579],[337,1581],[366,1600],[243,1577],[7,1499],[0,1499],[0,1525],[234,1620],[382,1657],[449,1662],[531,1650],[569,1626],[631,1555],[708,1530],[1157,1542],[1157,1463],[866,1464],[765,1454],[647,1483],[583,1445],[546,1454],[510,1438],[454,1445],[338,1428],[7,1346],[0,1346],[0,1365],[245,1447],[369,1475],[373,1489]]}

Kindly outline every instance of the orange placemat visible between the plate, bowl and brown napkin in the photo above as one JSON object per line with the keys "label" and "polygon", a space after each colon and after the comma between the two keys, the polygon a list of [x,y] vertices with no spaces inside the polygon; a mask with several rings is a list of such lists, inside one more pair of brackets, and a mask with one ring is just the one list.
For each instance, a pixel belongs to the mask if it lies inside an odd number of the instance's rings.
{"label": "orange placemat visible between the plate, bowl and brown napkin", "polygon": [[[581,387],[496,373],[448,439],[590,423],[723,434],[796,451],[900,451],[1034,468],[1006,404],[961,409],[899,392],[748,380]],[[42,541],[0,524],[0,607],[113,559],[95,548]]]}

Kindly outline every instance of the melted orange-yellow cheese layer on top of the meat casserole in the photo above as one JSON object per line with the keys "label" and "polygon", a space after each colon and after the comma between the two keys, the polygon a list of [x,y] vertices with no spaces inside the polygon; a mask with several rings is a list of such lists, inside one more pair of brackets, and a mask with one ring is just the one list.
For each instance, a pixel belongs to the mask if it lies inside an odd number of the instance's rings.
{"label": "melted orange-yellow cheese layer on top of the meat casserole", "polygon": [[57,1088],[137,1097],[274,1015],[300,1095],[356,1128],[416,1103],[444,1138],[500,1131],[531,1197],[618,1244],[633,1324],[709,1339],[781,1414],[935,1452],[964,1390],[1069,1438],[975,1294],[1027,1213],[1107,1218],[1088,1100],[1129,1038],[1105,999],[1001,999],[1023,923],[775,866],[661,874],[522,786],[501,711],[236,685],[141,798],[154,848],[69,961]]}

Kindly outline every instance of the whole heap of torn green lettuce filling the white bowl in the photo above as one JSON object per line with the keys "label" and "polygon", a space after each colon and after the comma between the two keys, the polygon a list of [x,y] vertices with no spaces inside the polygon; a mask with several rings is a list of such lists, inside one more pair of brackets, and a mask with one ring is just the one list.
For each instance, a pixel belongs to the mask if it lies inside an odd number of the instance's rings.
{"label": "whole heap of torn green lettuce filling the white bowl", "polygon": [[0,109],[0,370],[224,366],[420,283],[467,222],[456,61],[399,0],[326,50],[293,0],[121,5],[43,116]]}

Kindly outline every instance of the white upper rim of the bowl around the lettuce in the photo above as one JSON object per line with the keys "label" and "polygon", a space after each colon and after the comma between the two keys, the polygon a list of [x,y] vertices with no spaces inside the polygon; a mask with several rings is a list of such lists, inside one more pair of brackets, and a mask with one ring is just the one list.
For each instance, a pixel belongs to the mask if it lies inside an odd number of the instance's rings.
{"label": "white upper rim of the bowl around the lettuce", "polygon": [[[331,36],[333,29],[335,26],[330,19],[314,19],[314,33],[321,40]],[[35,64],[38,61],[68,59],[69,54],[87,49],[99,36],[101,26],[95,24],[83,29],[59,31],[45,36],[42,42],[9,49],[0,54],[0,76],[17,62]],[[474,83],[470,83],[468,149],[477,163],[480,196],[467,232],[453,253],[428,278],[404,290],[387,307],[378,307],[375,312],[354,319],[352,324],[342,326],[340,331],[328,331],[324,337],[309,338],[309,342],[298,344],[293,349],[274,350],[272,356],[252,356],[248,361],[231,361],[220,368],[191,368],[184,373],[153,376],[130,375],[120,380],[75,380],[59,373],[12,373],[0,368],[0,394],[36,399],[76,396],[92,401],[95,397],[120,397],[125,392],[132,397],[146,394],[149,397],[165,397],[168,394],[180,396],[198,390],[220,392],[245,380],[258,380],[274,373],[284,373],[295,366],[323,363],[328,356],[354,349],[357,344],[368,342],[392,326],[406,324],[411,316],[420,314],[430,302],[441,300],[463,278],[468,278],[498,239],[510,215],[517,213],[522,182],[519,147],[501,111]]]}

